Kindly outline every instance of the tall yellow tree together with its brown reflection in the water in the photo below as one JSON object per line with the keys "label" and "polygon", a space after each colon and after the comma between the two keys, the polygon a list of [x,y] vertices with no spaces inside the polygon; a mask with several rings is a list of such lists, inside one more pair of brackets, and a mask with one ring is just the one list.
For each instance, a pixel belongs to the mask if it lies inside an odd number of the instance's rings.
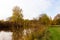
{"label": "tall yellow tree together with its brown reflection in the water", "polygon": [[23,15],[22,9],[18,6],[13,8],[13,15],[9,18],[10,22],[13,22],[14,25],[12,27],[13,30],[13,40],[20,40],[22,37],[22,22],[23,22]]}

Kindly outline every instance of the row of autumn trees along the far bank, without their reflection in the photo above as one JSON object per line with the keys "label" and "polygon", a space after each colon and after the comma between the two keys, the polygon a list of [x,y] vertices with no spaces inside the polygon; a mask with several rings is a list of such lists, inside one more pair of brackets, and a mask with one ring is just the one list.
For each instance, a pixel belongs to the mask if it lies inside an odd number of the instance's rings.
{"label": "row of autumn trees along the far bank, without their reflection", "polygon": [[47,14],[43,13],[43,14],[40,14],[38,18],[33,18],[32,20],[29,20],[29,19],[23,18],[22,9],[16,6],[13,8],[13,15],[11,17],[8,17],[6,21],[0,20],[0,26],[2,25],[11,26],[12,23],[16,23],[16,24],[22,23],[22,25],[27,25],[27,26],[28,25],[30,26],[31,24],[35,24],[35,23],[38,23],[41,25],[60,25],[60,14],[57,14],[52,19],[52,17],[49,17]]}

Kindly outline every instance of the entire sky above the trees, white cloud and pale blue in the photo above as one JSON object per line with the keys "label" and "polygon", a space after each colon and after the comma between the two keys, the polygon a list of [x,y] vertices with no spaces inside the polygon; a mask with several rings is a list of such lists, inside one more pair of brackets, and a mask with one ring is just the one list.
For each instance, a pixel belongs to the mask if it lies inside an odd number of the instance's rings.
{"label": "entire sky above the trees, white cloud and pale blue", "polygon": [[24,19],[33,19],[42,13],[53,18],[60,13],[60,0],[0,0],[0,19],[12,16],[14,6],[23,10]]}

